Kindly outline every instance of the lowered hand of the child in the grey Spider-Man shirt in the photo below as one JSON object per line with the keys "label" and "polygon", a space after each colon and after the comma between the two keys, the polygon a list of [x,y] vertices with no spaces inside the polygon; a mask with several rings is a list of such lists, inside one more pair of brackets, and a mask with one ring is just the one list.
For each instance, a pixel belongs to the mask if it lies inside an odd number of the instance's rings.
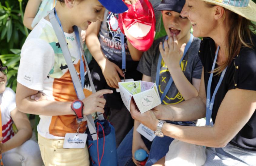
{"label": "lowered hand of the child in the grey Spider-Man shirt", "polygon": [[105,63],[101,64],[100,67],[108,86],[112,88],[118,88],[118,83],[121,82],[118,74],[124,77],[123,71],[116,64],[109,61],[107,58]]}

